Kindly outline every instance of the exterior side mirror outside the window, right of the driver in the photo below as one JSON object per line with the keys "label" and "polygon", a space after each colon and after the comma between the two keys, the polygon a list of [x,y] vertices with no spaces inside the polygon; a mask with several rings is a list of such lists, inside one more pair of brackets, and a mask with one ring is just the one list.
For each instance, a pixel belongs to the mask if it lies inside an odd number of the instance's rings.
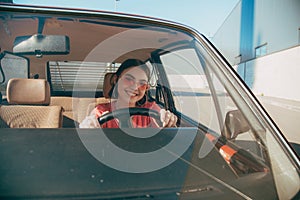
{"label": "exterior side mirror outside the window, right of the driver", "polygon": [[228,140],[235,139],[239,134],[250,130],[250,125],[239,110],[226,114],[222,135]]}

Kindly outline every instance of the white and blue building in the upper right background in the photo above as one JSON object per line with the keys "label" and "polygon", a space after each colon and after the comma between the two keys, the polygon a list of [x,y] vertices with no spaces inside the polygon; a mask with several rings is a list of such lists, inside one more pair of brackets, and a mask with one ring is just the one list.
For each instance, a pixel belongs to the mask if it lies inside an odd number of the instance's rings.
{"label": "white and blue building in the upper right background", "polygon": [[212,41],[255,94],[300,101],[300,0],[240,0]]}

